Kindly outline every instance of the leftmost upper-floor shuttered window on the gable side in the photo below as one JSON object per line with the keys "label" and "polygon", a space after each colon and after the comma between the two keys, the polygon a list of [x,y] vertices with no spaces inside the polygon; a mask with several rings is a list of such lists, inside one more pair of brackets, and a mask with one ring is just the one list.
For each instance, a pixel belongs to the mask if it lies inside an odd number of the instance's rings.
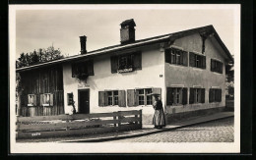
{"label": "leftmost upper-floor shuttered window on the gable side", "polygon": [[166,49],[165,62],[170,64],[187,66],[187,52],[176,48]]}

